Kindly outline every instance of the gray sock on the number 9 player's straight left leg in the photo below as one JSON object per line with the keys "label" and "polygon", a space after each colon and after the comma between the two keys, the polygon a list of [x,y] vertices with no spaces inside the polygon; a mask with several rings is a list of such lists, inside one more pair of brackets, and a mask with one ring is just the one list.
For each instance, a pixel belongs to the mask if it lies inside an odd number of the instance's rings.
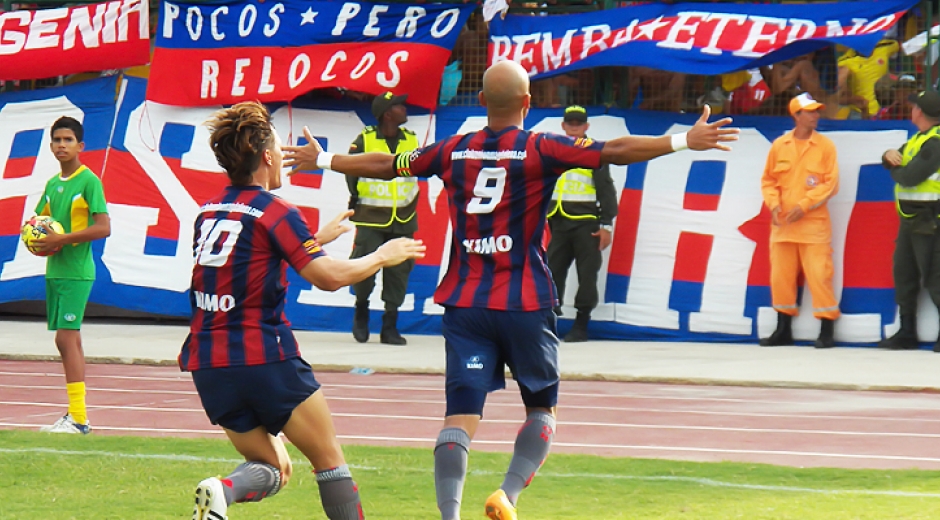
{"label": "gray sock on the number 9 player's straight left leg", "polygon": [[470,436],[461,428],[444,428],[434,446],[434,487],[442,520],[460,519],[463,482],[467,477]]}

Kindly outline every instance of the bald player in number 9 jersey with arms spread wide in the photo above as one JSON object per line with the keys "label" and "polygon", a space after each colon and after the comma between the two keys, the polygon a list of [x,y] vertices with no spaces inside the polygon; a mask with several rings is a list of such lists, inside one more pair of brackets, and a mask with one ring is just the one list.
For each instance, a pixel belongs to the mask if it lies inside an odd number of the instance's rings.
{"label": "bald player in number 9 jersey with arms spread wide", "polygon": [[438,175],[450,197],[453,229],[447,273],[434,301],[444,306],[447,411],[434,450],[434,479],[443,520],[460,518],[470,440],[487,393],[505,386],[509,367],[519,383],[526,418],[516,437],[503,484],[487,499],[491,519],[515,520],[516,502],[548,456],[555,436],[558,338],[555,285],[542,235],[555,182],[571,168],[646,161],[676,150],[722,149],[737,139],[731,120],[708,123],[709,111],[689,132],[626,136],[607,142],[522,129],[529,78],[502,61],[483,76],[480,104],[486,128],[449,137],[411,153],[345,156],[323,152],[305,129],[305,146],[288,146],[285,164],[331,168],[352,176]]}

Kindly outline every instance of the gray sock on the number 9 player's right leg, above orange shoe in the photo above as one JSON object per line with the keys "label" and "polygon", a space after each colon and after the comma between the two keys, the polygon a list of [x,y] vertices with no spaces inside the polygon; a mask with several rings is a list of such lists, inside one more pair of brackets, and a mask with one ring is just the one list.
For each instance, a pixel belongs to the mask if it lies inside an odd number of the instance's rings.
{"label": "gray sock on the number 9 player's right leg, above orange shoe", "polygon": [[554,438],[555,417],[545,412],[530,413],[516,436],[509,470],[506,471],[506,478],[500,486],[513,505],[545,462]]}

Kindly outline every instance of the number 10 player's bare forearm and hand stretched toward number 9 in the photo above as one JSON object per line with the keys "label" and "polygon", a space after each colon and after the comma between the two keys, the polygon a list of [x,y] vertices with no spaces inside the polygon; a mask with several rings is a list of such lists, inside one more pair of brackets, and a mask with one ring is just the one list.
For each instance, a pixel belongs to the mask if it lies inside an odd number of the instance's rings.
{"label": "number 10 player's bare forearm and hand stretched toward number 9", "polygon": [[335,291],[361,282],[384,267],[413,258],[424,258],[426,249],[420,240],[396,238],[382,244],[374,253],[353,260],[332,256],[315,258],[300,270],[300,276],[318,289]]}

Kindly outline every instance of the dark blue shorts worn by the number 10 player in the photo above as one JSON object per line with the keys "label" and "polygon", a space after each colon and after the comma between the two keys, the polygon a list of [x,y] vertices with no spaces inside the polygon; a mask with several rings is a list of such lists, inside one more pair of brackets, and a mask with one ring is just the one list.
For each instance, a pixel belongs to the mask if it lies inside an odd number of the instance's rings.
{"label": "dark blue shorts worn by the number 10 player", "polygon": [[277,435],[294,408],[320,389],[306,361],[297,357],[266,365],[203,368],[193,383],[212,424],[246,433],[264,426]]}

